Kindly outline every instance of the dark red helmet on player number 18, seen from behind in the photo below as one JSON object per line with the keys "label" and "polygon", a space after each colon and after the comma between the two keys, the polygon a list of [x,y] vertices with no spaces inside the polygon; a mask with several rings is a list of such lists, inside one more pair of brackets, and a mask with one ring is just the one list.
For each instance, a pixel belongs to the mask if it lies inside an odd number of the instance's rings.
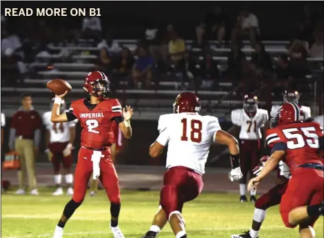
{"label": "dark red helmet on player number 18, seen from behind", "polygon": [[192,92],[182,92],[173,103],[174,113],[199,112],[200,108],[200,99]]}

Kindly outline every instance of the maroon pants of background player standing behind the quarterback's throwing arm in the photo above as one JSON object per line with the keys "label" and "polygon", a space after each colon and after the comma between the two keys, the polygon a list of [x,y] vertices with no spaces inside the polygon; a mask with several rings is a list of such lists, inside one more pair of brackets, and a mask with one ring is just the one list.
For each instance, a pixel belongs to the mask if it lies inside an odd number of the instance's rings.
{"label": "maroon pants of background player standing behind the quarterback's throwing arm", "polygon": [[54,173],[59,172],[61,163],[65,170],[68,170],[72,167],[72,155],[67,157],[63,156],[63,150],[68,146],[68,142],[54,142],[48,145],[50,152],[52,153],[52,165]]}

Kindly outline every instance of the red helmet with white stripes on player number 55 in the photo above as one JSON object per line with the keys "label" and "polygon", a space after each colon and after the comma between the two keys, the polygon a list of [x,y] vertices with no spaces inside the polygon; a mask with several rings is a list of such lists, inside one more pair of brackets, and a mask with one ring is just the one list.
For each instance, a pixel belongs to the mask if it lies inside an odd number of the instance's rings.
{"label": "red helmet with white stripes on player number 55", "polygon": [[304,120],[304,113],[296,103],[285,103],[278,112],[278,125],[286,125]]}

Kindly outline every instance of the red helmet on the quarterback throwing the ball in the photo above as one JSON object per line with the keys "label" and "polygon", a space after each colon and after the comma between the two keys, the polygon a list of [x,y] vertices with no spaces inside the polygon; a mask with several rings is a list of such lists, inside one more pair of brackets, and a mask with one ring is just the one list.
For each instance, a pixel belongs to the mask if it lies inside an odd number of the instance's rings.
{"label": "red helmet on the quarterback throwing the ball", "polygon": [[90,95],[103,100],[108,97],[110,91],[110,81],[108,77],[101,71],[93,71],[88,74],[84,80],[83,88]]}

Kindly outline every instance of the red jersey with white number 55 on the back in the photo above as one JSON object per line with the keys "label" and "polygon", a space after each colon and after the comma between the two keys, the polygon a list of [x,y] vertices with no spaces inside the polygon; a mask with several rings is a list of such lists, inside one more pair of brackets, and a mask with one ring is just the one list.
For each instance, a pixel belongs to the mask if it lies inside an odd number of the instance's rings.
{"label": "red jersey with white number 55 on the back", "polygon": [[292,172],[303,163],[321,163],[318,155],[318,137],[323,136],[320,125],[316,122],[290,123],[267,130],[267,145],[272,148],[276,143],[285,143],[287,163]]}

